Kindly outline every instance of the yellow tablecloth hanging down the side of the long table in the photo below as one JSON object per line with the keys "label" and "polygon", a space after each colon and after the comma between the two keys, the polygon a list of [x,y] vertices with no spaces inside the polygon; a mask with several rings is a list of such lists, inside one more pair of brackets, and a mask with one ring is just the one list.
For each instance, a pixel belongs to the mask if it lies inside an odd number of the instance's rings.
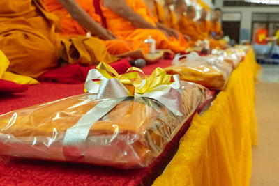
{"label": "yellow tablecloth hanging down the side of the long table", "polygon": [[256,144],[252,49],[202,116],[196,115],[172,162],[153,185],[249,185]]}

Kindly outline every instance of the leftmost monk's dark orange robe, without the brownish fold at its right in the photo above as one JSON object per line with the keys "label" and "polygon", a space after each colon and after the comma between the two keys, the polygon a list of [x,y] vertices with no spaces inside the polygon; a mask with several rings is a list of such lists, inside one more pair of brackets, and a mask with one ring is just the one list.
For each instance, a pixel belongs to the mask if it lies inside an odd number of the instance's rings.
{"label": "leftmost monk's dark orange robe, without the brownish fold at its right", "polygon": [[0,1],[0,46],[10,60],[8,70],[38,77],[56,66],[58,43],[47,18],[40,1]]}

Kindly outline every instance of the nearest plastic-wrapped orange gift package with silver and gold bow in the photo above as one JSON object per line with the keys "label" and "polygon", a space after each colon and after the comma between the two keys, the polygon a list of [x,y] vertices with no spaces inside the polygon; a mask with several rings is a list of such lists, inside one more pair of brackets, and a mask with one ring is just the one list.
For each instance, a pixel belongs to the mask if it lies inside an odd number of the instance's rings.
{"label": "nearest plastic-wrapped orange gift package with silver and gold bow", "polygon": [[139,72],[111,78],[107,67],[98,68],[89,72],[87,93],[1,115],[0,153],[120,169],[149,166],[209,96],[203,86],[163,69],[138,81]]}

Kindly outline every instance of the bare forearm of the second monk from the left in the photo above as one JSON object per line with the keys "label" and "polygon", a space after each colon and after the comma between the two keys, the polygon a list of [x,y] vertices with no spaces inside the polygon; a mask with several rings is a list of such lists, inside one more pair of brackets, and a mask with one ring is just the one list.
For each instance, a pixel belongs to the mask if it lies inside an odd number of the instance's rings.
{"label": "bare forearm of the second monk from the left", "polygon": [[91,33],[95,33],[98,37],[104,40],[112,40],[115,39],[115,36],[104,29],[103,26],[95,22],[88,13],[86,13],[80,5],[75,0],[59,0],[61,5],[68,10],[68,13],[76,20],[80,26],[82,26],[87,31]]}

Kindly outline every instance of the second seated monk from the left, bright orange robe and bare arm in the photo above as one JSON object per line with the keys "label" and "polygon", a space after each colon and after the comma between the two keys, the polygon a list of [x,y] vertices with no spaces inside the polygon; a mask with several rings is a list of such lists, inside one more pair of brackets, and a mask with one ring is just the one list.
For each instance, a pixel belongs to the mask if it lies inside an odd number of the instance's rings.
{"label": "second seated monk from the left, bright orange robe and bare arm", "polygon": [[135,50],[142,50],[143,54],[149,53],[149,46],[143,42],[117,40],[110,31],[101,26],[100,16],[96,14],[92,0],[44,0],[44,2],[47,10],[59,17],[62,36],[86,36],[86,33],[90,32],[103,40],[107,51],[112,55],[126,54]]}

